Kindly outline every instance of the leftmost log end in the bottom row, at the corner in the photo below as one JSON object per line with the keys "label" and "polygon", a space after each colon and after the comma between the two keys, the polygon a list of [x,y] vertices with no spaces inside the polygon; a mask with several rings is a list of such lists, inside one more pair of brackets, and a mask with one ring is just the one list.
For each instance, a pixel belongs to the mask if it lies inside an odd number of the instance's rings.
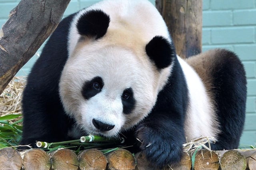
{"label": "leftmost log end in the bottom row, at the corner", "polygon": [[18,151],[13,148],[0,150],[0,170],[20,170],[22,158]]}

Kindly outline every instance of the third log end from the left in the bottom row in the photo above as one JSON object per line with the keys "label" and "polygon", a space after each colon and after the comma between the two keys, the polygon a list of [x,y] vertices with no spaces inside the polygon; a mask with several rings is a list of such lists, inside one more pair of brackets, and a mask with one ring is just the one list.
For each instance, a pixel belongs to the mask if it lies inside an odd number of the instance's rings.
{"label": "third log end from the left in the bottom row", "polygon": [[59,149],[52,153],[53,170],[77,170],[78,166],[78,158],[74,151]]}

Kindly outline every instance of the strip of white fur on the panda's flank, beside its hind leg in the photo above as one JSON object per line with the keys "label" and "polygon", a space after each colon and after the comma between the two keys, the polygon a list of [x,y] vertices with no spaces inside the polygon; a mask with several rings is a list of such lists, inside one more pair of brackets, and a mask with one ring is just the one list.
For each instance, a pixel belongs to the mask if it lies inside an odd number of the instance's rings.
{"label": "strip of white fur on the panda's flank, beside its hind leg", "polygon": [[[209,98],[204,83],[194,69],[178,57],[188,84],[189,104],[185,119],[185,134],[188,141],[196,137],[218,139],[218,125],[214,103]],[[213,128],[214,127],[214,128]],[[215,128],[217,127],[217,128]]]}

